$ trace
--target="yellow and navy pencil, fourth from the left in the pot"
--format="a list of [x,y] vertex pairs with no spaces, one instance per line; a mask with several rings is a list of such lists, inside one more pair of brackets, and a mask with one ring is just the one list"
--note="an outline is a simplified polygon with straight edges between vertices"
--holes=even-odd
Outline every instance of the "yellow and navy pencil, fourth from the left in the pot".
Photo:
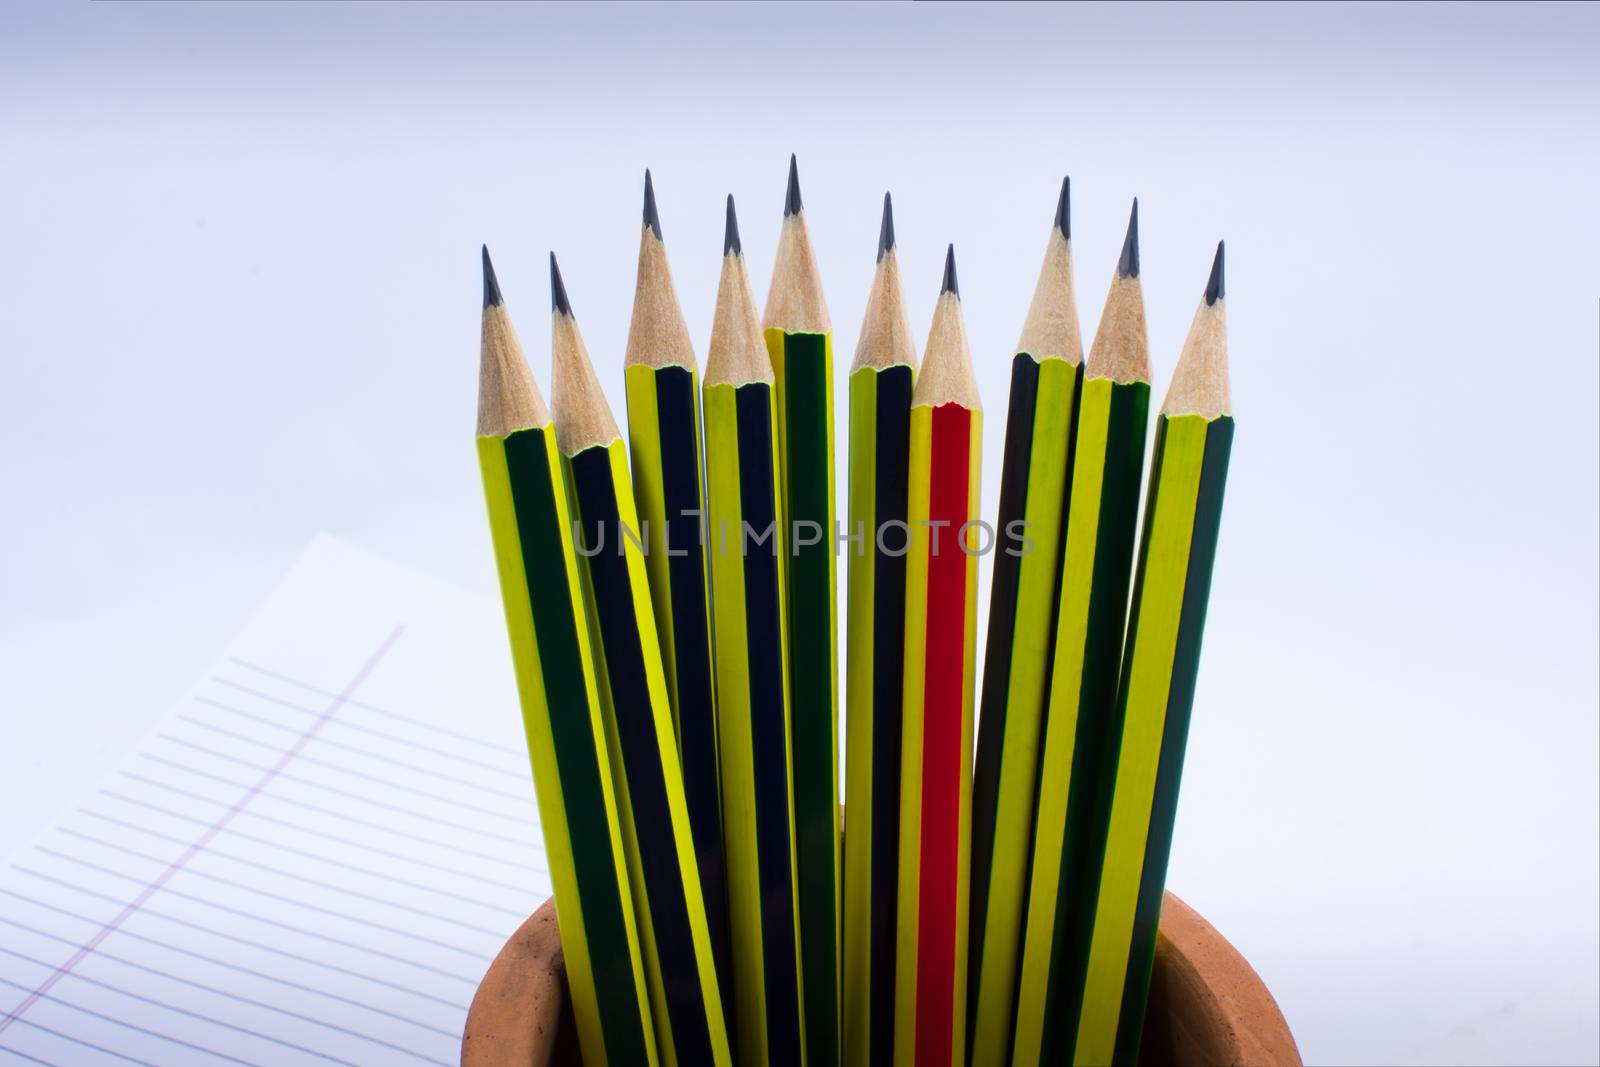
[[717,741],[741,1064],[805,1062],[773,365],[728,197],[706,357]]

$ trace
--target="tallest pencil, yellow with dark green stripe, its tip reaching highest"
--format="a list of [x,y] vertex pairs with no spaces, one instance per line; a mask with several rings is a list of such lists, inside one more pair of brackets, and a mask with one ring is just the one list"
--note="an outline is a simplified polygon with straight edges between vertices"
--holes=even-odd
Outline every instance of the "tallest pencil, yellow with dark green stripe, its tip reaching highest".
[[778,382],[789,544],[789,707],[806,1059],[838,1062],[838,622],[834,555],[834,334],[789,157],[784,224],[762,320]]

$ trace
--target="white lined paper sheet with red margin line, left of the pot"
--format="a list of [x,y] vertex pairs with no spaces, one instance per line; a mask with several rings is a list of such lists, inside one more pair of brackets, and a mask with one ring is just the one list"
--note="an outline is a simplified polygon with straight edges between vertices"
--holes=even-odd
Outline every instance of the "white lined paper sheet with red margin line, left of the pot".
[[499,606],[318,537],[0,870],[0,1064],[454,1064],[549,893]]

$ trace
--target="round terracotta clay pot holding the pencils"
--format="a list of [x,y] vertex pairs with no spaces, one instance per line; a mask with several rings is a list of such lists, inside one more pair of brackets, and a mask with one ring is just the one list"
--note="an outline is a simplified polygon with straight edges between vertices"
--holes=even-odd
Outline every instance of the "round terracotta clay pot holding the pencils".
[[[555,902],[490,965],[467,1013],[461,1067],[578,1064]],[[1299,1049],[1261,977],[1187,904],[1166,894],[1139,1062],[1150,1067],[1299,1067]]]

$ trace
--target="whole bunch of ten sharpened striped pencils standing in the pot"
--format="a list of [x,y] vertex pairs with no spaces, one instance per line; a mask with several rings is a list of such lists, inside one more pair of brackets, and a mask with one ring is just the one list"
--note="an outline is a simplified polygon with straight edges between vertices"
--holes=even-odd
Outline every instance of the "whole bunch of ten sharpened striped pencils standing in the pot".
[[1138,1061],[1234,434],[1222,269],[1139,533],[1139,205],[1085,360],[1062,181],[990,528],[955,250],[918,370],[885,194],[838,536],[794,157],[763,318],[728,197],[704,381],[645,173],[627,450],[555,258],[546,408],[483,251],[478,456],[586,1062]]

